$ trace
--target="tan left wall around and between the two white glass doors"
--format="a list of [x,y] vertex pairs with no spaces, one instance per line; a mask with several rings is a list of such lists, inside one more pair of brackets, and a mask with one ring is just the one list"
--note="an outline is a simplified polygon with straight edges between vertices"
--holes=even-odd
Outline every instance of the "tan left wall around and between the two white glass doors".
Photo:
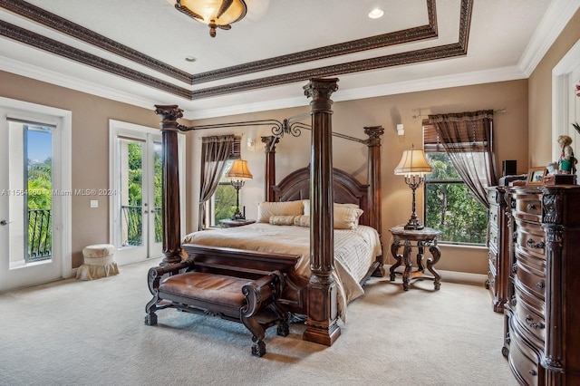
[[[0,85],[5,98],[73,111],[73,191],[109,188],[110,119],[160,127],[153,106],[141,109],[9,72],[0,72]],[[99,200],[99,207],[90,207],[92,199]],[[109,242],[109,198],[73,196],[72,202],[73,267],[77,267],[84,246]]]

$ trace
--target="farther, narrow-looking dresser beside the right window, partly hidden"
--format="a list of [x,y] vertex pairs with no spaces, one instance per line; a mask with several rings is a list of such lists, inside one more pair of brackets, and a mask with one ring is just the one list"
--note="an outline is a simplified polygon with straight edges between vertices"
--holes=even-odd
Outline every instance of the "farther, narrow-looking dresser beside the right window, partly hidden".
[[491,306],[496,313],[504,312],[507,303],[509,280],[509,229],[506,187],[489,187],[488,190],[488,280],[486,288],[491,294]]

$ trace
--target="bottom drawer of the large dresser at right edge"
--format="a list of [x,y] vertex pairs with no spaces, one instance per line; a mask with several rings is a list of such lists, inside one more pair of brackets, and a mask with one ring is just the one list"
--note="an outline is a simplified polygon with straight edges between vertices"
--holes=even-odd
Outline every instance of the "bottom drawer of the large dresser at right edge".
[[539,356],[519,335],[513,324],[513,317],[509,318],[509,367],[520,383],[538,385],[541,370]]

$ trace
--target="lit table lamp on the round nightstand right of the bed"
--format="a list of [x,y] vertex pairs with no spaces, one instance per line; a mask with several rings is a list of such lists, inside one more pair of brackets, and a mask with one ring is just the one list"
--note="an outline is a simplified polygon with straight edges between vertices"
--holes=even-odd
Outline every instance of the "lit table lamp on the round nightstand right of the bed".
[[430,173],[432,170],[433,168],[431,168],[429,162],[425,159],[423,150],[415,149],[414,146],[411,146],[411,150],[402,152],[401,162],[395,168],[395,174],[404,175],[405,183],[413,191],[411,218],[409,218],[409,221],[404,226],[405,229],[422,229],[424,227],[419,217],[417,217],[417,213],[415,213],[415,190],[419,188],[420,183],[425,179],[425,174]]

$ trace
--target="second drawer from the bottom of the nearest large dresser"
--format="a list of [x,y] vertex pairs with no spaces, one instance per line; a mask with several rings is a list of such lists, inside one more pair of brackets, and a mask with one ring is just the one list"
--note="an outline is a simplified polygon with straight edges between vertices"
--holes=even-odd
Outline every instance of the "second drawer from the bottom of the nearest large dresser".
[[517,302],[516,306],[512,307],[515,310],[512,318],[517,318],[526,339],[530,342],[536,342],[539,350],[546,338],[546,321],[543,316],[546,305],[533,295],[527,294],[517,281],[514,285],[514,291]]

